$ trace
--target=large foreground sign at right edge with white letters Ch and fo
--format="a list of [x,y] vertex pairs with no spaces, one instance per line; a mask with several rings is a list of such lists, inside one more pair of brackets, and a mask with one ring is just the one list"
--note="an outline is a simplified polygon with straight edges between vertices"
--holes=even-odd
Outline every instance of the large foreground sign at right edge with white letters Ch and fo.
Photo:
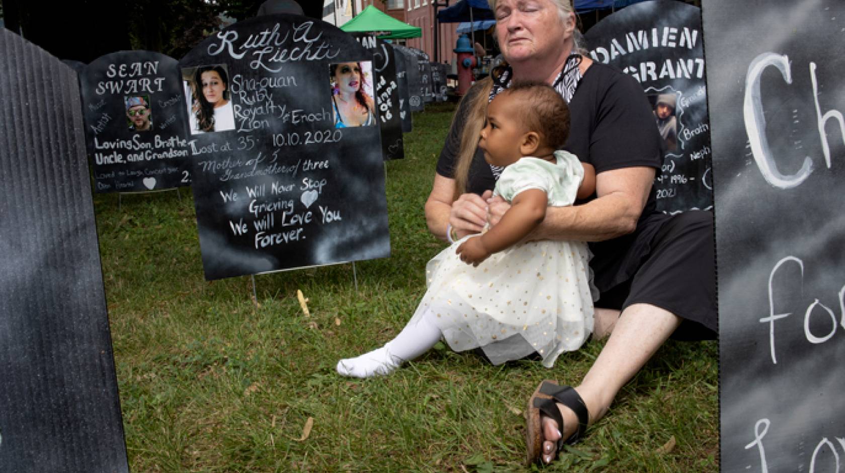
[[845,3],[705,0],[722,471],[845,460]]

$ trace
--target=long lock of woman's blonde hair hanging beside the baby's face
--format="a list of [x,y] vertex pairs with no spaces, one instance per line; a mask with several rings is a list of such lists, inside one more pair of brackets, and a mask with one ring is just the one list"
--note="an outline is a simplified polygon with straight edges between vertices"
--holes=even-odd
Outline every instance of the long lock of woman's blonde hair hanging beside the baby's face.
[[[487,120],[487,103],[490,97],[490,90],[493,90],[493,79],[486,77],[477,81],[473,88],[472,95],[464,95],[462,101],[467,101],[466,113],[455,113],[452,117],[452,126],[455,122],[463,119],[464,128],[461,132],[461,148],[458,152],[458,159],[455,161],[455,200],[466,193],[466,182],[469,180],[472,158],[475,156],[478,147],[478,139],[481,137],[481,130]],[[460,117],[459,117],[460,116]]]

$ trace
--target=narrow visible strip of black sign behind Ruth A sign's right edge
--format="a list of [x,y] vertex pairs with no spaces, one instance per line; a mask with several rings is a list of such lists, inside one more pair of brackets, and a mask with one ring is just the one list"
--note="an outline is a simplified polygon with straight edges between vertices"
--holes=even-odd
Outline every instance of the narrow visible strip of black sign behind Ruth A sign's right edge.
[[374,35],[354,35],[362,46],[373,52],[373,82],[381,128],[381,150],[384,160],[405,157],[402,141],[402,119],[399,111],[399,83],[393,48]]

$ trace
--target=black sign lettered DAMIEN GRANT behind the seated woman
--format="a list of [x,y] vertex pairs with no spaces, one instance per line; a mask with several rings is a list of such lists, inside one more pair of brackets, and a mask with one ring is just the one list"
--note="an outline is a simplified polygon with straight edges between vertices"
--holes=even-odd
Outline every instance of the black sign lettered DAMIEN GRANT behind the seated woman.
[[657,209],[712,209],[701,10],[675,0],[623,8],[586,32],[590,57],[640,81],[651,101],[665,154]]

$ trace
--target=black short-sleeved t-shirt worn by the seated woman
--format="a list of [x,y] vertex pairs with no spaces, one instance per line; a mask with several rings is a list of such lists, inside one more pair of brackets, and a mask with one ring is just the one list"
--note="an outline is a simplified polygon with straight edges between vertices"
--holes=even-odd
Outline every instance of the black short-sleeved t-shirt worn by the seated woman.
[[[479,93],[475,85],[467,98]],[[454,177],[454,163],[461,144],[461,129],[466,119],[466,103],[456,111],[457,117],[450,129],[437,163],[437,173]],[[647,166],[657,170],[662,165],[660,133],[655,126],[651,105],[639,83],[617,68],[602,63],[592,63],[575,90],[570,101],[570,139],[565,150],[590,163],[596,172],[624,167]],[[495,187],[490,166],[484,161],[481,150],[476,150],[466,185],[467,192],[483,193]],[[595,198],[593,195],[588,200]],[[625,236],[604,242],[591,242],[594,254],[591,267],[596,274],[596,285],[606,291],[627,280],[641,263],[648,251],[648,242],[659,228],[652,222],[662,220],[656,214],[654,188],[643,209],[637,230]]]

